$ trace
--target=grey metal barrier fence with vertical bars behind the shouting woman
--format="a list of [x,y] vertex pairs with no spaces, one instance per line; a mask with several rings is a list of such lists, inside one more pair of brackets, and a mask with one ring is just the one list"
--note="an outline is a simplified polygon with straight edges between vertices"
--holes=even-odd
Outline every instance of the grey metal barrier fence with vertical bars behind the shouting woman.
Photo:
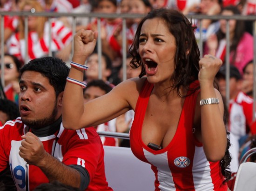
[[[72,33],[74,35],[75,33],[75,26],[76,26],[76,18],[77,17],[85,17],[85,18],[96,18],[97,19],[97,30],[98,33],[101,33],[101,18],[121,18],[122,19],[122,28],[126,28],[126,19],[133,19],[133,18],[142,18],[144,15],[142,14],[106,14],[106,13],[43,13],[43,12],[35,12],[35,13],[30,13],[30,12],[0,12],[0,39],[1,39],[1,50],[3,50],[4,47],[4,15],[10,15],[10,16],[24,16],[24,22],[25,22],[25,42],[27,44],[27,36],[28,36],[28,29],[27,29],[27,23],[28,23],[28,16],[45,16],[48,18],[49,22],[51,22],[52,18],[55,17],[61,17],[61,16],[65,16],[65,17],[72,17]],[[199,31],[200,31],[200,39],[198,42],[198,46],[199,46],[199,50],[202,53],[202,25],[201,25],[201,20],[202,19],[210,19],[210,20],[220,20],[220,19],[225,19],[227,20],[227,24],[226,24],[226,41],[227,41],[227,45],[226,45],[226,66],[227,66],[227,70],[226,70],[226,103],[229,103],[229,54],[230,54],[230,50],[229,50],[229,45],[230,45],[230,41],[229,41],[229,20],[250,20],[253,21],[253,38],[254,38],[254,58],[253,58],[253,76],[254,76],[254,86],[253,86],[253,98],[254,98],[254,106],[253,106],[253,113],[255,113],[256,111],[256,15],[232,15],[232,16],[223,16],[223,15],[214,15],[214,16],[208,16],[208,15],[202,15],[202,14],[195,14],[195,15],[187,15],[187,18],[190,19],[196,19],[199,20],[200,26],[199,26]],[[51,33],[51,27],[49,27],[49,33]],[[126,31],[122,30],[122,39],[126,39]],[[98,36],[97,39],[98,42],[98,46],[97,46],[97,51],[98,51],[98,60],[101,60],[101,56],[102,56],[102,52],[101,52],[101,37],[100,35]],[[49,40],[49,45],[51,45],[51,40]],[[50,47],[49,47],[50,48]],[[72,53],[73,54],[74,51],[74,44],[72,43]],[[25,54],[27,55],[27,47],[25,50]],[[49,56],[52,56],[52,52],[49,51]],[[201,54],[202,55],[202,54]],[[1,58],[4,57],[4,52],[1,51]],[[123,80],[127,79],[127,75],[126,75],[126,60],[127,57],[127,52],[126,52],[126,40],[122,40],[122,66],[123,66]],[[27,56],[25,58],[25,63],[27,63]],[[3,63],[3,59],[1,60],[1,76],[4,75],[4,63]],[[101,79],[102,77],[102,73],[101,73],[101,64],[99,64],[99,79]],[[4,79],[1,78],[2,84],[4,84]],[[253,115],[253,119],[255,119],[255,115]]]

